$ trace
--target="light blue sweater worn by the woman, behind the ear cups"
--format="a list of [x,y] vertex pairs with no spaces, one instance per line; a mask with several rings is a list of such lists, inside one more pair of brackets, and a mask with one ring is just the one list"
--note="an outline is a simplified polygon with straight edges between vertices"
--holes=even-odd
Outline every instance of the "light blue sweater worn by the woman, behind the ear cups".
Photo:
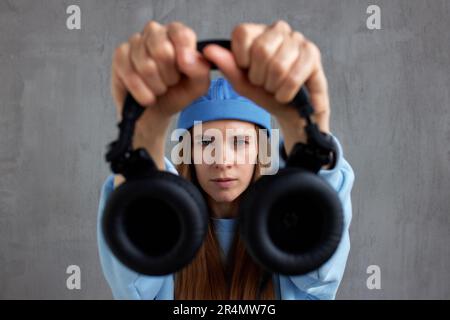
[[[334,168],[321,170],[322,176],[338,192],[344,209],[344,234],[334,255],[319,269],[306,275],[285,276],[273,274],[276,299],[334,299],[344,274],[350,251],[349,226],[352,218],[350,192],[355,175],[352,167],[344,159],[342,146],[333,136],[338,150]],[[280,160],[281,161],[281,160]],[[165,158],[166,170],[177,174],[173,164]],[[284,166],[279,163],[280,168]],[[109,175],[103,183],[97,215],[97,242],[100,262],[106,281],[115,299],[174,299],[174,274],[165,276],[147,276],[138,274],[124,266],[106,245],[100,219],[109,195],[114,190],[114,175]],[[219,244],[225,255],[228,254],[236,219],[210,218],[216,226]]]

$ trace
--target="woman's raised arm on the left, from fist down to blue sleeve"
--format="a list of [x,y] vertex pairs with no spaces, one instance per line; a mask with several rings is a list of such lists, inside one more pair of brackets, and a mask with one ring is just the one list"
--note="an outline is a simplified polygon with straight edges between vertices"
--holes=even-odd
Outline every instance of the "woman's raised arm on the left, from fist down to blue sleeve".
[[[123,103],[130,93],[145,108],[136,122],[133,148],[145,148],[160,170],[172,171],[164,158],[172,117],[208,90],[209,71],[209,63],[197,52],[195,33],[179,22],[165,26],[150,21],[114,53],[111,89],[117,120],[121,121]],[[111,192],[123,182],[121,175],[108,176],[98,206],[97,241],[105,278],[116,299],[171,299],[172,275],[138,274],[124,266],[105,242],[101,229],[104,208]]]

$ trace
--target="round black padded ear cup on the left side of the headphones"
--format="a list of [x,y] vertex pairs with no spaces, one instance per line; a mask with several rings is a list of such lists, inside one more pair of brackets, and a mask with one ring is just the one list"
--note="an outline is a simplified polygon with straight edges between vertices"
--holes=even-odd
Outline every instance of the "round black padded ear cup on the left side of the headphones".
[[146,275],[171,274],[189,264],[207,227],[200,191],[180,176],[157,170],[115,189],[102,219],[111,251]]

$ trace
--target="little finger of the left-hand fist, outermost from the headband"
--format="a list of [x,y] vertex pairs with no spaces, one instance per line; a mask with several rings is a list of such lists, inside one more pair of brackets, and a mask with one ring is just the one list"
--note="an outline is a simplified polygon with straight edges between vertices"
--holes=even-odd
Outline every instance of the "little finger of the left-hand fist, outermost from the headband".
[[130,45],[125,43],[119,46],[114,54],[114,59],[115,65],[120,66],[116,69],[118,79],[126,87],[127,91],[140,105],[144,107],[152,105],[155,102],[155,96],[132,66]]

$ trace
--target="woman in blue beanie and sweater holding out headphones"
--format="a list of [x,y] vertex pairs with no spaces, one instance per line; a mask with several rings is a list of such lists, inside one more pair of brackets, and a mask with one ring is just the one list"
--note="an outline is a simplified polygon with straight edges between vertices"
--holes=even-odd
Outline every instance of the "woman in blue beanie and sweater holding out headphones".
[[[306,138],[303,120],[286,103],[305,84],[314,105],[313,119],[322,132],[331,134],[327,83],[315,45],[284,21],[270,26],[239,25],[231,40],[231,52],[210,45],[202,55],[195,50],[196,37],[191,29],[178,22],[162,26],[151,21],[116,51],[112,91],[119,120],[127,92],[146,107],[137,122],[133,146],[146,148],[160,170],[180,174],[196,184],[208,204],[211,222],[194,260],[167,276],[145,276],[129,270],[111,253],[98,227],[101,264],[116,299],[255,299],[261,270],[235,231],[240,195],[261,174],[259,136],[227,136],[227,129],[252,133],[262,128],[270,135],[272,115],[280,124],[282,147],[289,154],[295,143]],[[215,63],[227,80],[210,81],[208,61]],[[215,143],[206,134],[209,129],[225,136],[215,149],[220,153],[215,162],[184,163],[175,168],[164,156],[169,124],[179,111],[178,128],[191,133],[191,151]],[[195,121],[202,121],[201,128]],[[341,243],[318,270],[303,276],[274,274],[262,299],[334,299],[336,295],[350,249],[354,173],[343,158],[339,141],[333,139],[338,146],[334,165],[322,168],[319,174],[338,192],[343,204]],[[244,155],[245,161],[229,161],[227,154]],[[109,194],[122,182],[123,177],[110,175],[103,184],[98,226]]]

